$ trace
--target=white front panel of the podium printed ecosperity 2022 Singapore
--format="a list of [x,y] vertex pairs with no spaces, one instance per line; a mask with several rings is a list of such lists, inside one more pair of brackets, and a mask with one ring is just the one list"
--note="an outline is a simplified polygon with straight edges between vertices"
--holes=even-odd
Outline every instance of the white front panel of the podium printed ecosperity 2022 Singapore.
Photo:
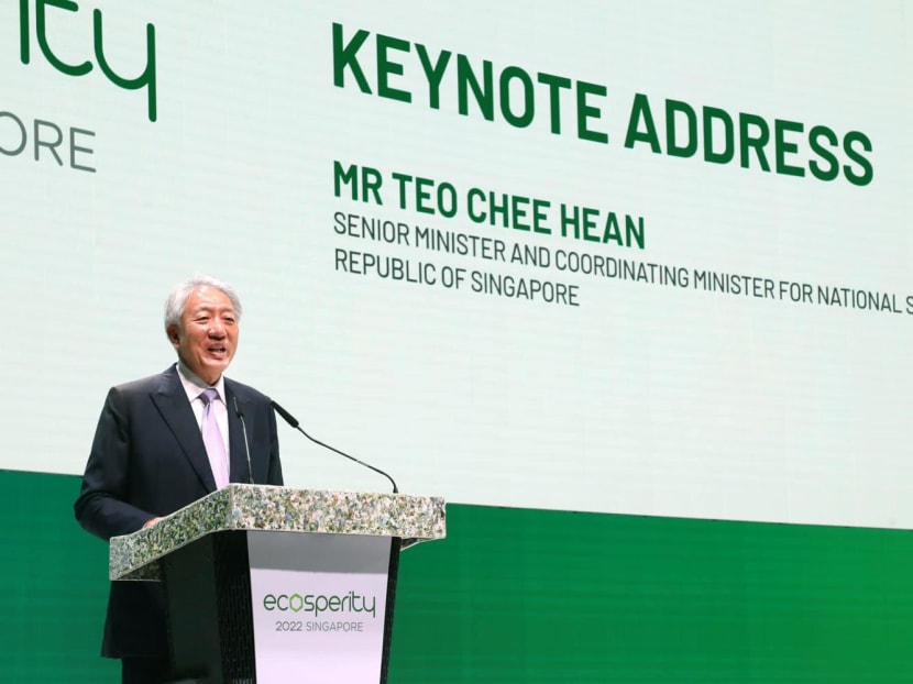
[[257,684],[382,681],[392,544],[248,532]]

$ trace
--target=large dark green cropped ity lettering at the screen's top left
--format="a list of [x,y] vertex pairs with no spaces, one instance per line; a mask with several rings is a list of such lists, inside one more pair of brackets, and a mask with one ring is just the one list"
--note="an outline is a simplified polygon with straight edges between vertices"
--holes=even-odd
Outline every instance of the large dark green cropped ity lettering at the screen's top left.
[[[47,63],[61,74],[67,76],[85,76],[89,74],[95,65],[91,59],[85,59],[78,64],[64,62],[53,49],[47,30],[47,8],[57,8],[67,12],[77,13],[79,5],[74,0],[19,0],[19,35],[20,35],[20,58],[22,64],[32,62],[32,29],[31,10],[34,8],[35,38],[41,54]],[[55,25],[59,25],[55,19]],[[146,24],[146,65],[143,73],[135,78],[128,78],[118,74],[105,55],[105,21],[101,10],[92,10],[92,48],[98,68],[114,86],[125,90],[146,89],[147,115],[150,121],[155,121],[158,115],[158,102],[155,87],[155,26]],[[57,29],[63,32],[64,29]]]

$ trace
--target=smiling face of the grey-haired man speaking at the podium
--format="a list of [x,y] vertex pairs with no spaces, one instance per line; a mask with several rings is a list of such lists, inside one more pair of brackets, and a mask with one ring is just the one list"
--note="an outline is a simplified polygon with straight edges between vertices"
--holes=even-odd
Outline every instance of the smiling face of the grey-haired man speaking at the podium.
[[168,326],[167,333],[187,367],[212,385],[234,357],[238,316],[223,291],[204,286],[187,298],[180,326]]

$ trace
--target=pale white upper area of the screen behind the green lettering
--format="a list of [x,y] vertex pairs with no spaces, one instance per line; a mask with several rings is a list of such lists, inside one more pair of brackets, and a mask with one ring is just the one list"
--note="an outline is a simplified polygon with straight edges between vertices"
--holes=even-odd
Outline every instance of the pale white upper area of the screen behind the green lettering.
[[[0,371],[6,468],[78,473],[106,389],[173,361],[169,287],[232,282],[245,306],[229,375],[273,396],[316,437],[391,471],[400,489],[470,504],[850,526],[913,526],[909,464],[913,295],[911,7],[903,2],[507,3],[89,2],[0,5]],[[150,88],[121,76],[155,60]],[[147,49],[145,26],[155,27]],[[333,23],[358,52],[333,84]],[[30,55],[23,63],[22,27]],[[377,35],[389,85],[378,97]],[[452,51],[439,109],[417,44]],[[536,87],[529,128],[457,107],[455,62],[516,66],[605,87],[580,140],[574,98],[549,131]],[[513,88],[518,88],[514,82]],[[512,90],[510,102],[519,111]],[[804,177],[625,147],[636,93],[800,122]],[[496,108],[497,111],[497,108]],[[35,120],[66,143],[35,159]],[[22,126],[20,128],[20,123]],[[872,180],[814,178],[809,132],[864,133]],[[38,123],[48,140],[53,128]],[[24,131],[24,135],[23,135]],[[737,133],[738,135],[738,129]],[[21,152],[15,153],[24,142]],[[738,137],[736,137],[738,144]],[[768,158],[774,164],[772,144]],[[15,154],[14,154],[15,153]],[[836,147],[840,165],[853,159]],[[375,168],[383,205],[334,196],[334,162]],[[858,173],[859,166],[855,165]],[[550,202],[551,235],[398,206],[393,173]],[[558,233],[562,205],[644,220],[646,245]],[[334,232],[333,214],[404,222],[410,243]],[[416,247],[415,227],[686,269],[688,287],[501,263]],[[600,229],[600,234],[602,229]],[[353,275],[337,250],[575,286],[579,306]],[[694,269],[776,284],[774,297],[704,291]],[[469,277],[469,275],[468,275]],[[900,312],[793,302],[780,280],[872,290]],[[789,290],[787,290],[789,291]],[[913,301],[913,300],[911,300]],[[370,472],[280,426],[287,483],[384,489]]]

